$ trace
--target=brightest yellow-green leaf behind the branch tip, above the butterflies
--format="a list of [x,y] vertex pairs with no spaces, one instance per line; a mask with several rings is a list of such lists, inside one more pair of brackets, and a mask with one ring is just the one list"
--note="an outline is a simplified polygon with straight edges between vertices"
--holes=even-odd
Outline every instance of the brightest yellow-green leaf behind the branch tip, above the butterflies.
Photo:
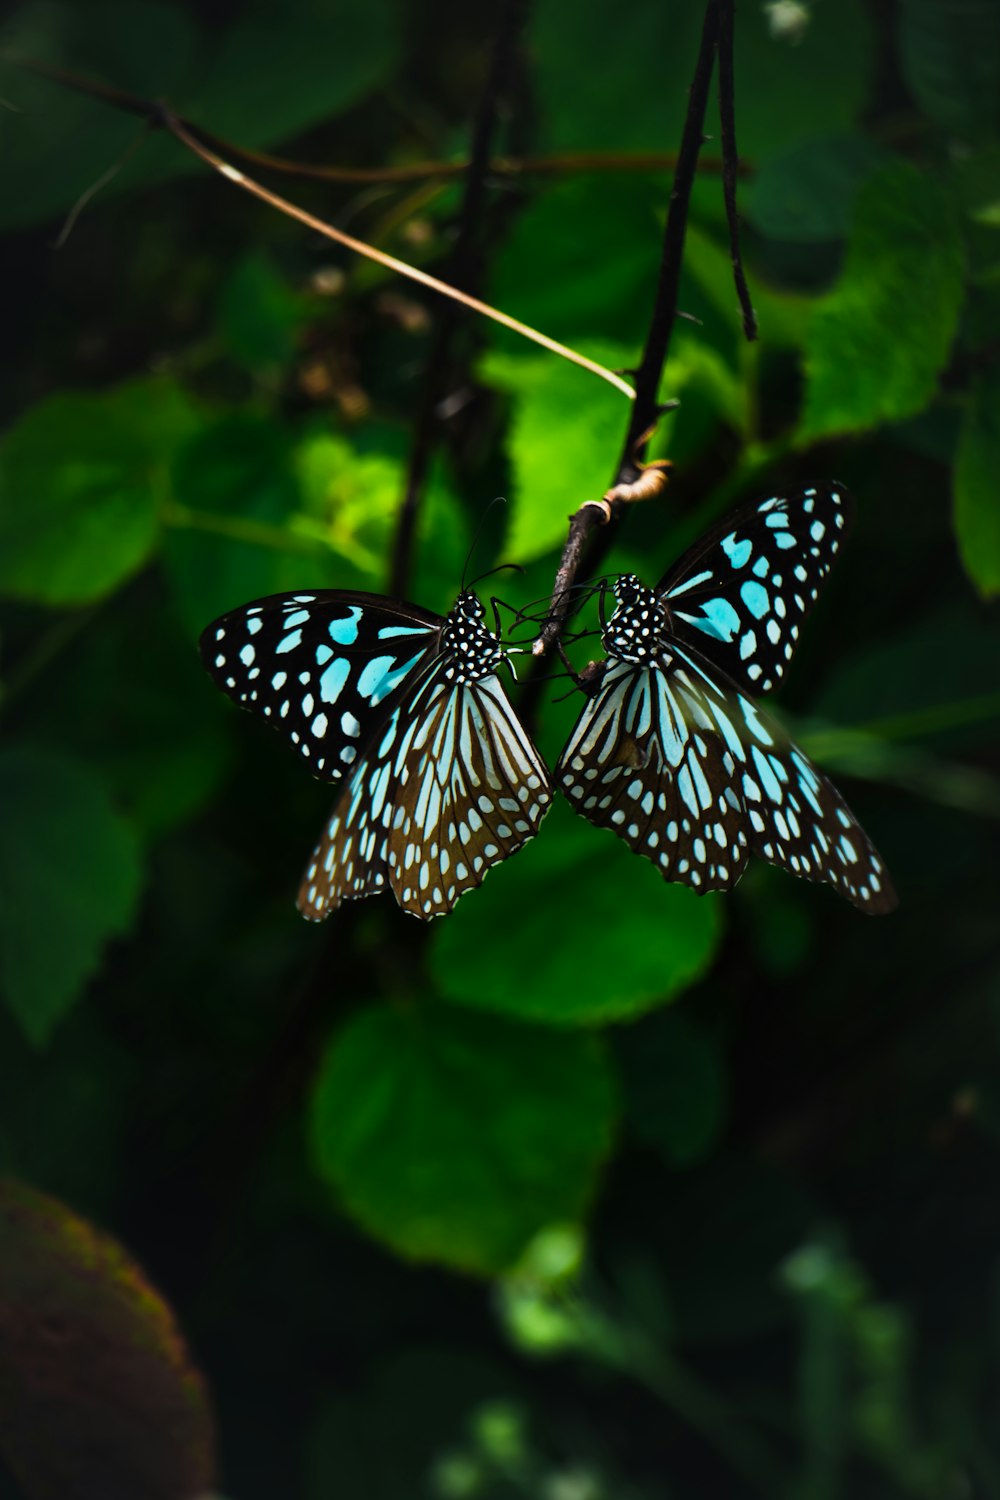
[[[624,368],[621,345],[574,345],[609,369]],[[507,546],[528,562],[565,536],[567,518],[612,483],[628,405],[619,392],[565,360],[487,354],[483,378],[513,398],[510,464],[516,504]]]

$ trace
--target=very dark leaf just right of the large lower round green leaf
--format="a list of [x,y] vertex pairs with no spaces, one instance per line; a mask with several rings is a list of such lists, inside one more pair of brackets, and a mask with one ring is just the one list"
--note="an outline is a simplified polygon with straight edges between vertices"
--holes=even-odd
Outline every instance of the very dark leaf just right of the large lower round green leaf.
[[679,1011],[651,1016],[616,1035],[630,1132],[687,1167],[715,1144],[727,1110],[718,1046]]

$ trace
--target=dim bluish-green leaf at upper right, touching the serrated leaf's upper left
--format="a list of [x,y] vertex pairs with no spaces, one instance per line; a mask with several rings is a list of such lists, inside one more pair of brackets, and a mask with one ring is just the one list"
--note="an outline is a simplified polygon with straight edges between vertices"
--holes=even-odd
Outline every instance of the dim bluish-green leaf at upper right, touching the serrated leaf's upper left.
[[840,240],[862,183],[891,160],[865,135],[831,135],[765,158],[742,194],[742,208],[775,240]]

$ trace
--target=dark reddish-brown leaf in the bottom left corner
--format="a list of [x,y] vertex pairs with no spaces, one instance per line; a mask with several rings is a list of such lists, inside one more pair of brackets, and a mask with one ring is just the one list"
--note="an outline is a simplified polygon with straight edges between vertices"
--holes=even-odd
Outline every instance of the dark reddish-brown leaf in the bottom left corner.
[[135,1262],[0,1182],[0,1452],[27,1500],[193,1500],[213,1449],[204,1382]]

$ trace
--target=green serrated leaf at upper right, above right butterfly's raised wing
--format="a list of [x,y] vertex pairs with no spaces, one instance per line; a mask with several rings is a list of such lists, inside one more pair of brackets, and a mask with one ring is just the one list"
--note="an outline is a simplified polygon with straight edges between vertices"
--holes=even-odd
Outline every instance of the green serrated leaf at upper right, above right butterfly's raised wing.
[[805,345],[799,441],[912,417],[931,400],[963,302],[963,248],[949,200],[910,165],[858,196],[838,285]]

